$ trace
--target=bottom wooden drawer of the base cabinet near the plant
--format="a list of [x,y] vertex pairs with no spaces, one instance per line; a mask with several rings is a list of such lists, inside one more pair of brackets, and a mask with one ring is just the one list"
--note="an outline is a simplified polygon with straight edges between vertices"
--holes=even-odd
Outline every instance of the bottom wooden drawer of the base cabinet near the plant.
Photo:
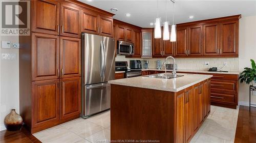
[[223,94],[223,93],[217,93],[217,92],[211,92],[210,93],[210,100],[211,101],[218,101],[218,102],[229,102],[229,103],[235,103],[236,101],[236,94]]

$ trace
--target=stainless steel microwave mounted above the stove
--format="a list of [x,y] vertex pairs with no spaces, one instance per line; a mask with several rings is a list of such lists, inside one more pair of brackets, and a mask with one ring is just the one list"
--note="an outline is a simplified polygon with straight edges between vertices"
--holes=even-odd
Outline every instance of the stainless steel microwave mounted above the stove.
[[119,55],[134,55],[133,43],[118,41],[117,54],[119,54]]

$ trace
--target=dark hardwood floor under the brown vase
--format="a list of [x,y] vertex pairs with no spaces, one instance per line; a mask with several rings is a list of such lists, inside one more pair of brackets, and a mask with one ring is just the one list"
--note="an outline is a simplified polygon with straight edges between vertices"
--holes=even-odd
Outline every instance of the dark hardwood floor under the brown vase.
[[0,142],[39,143],[41,141],[35,138],[27,129],[23,127],[20,131],[0,131]]

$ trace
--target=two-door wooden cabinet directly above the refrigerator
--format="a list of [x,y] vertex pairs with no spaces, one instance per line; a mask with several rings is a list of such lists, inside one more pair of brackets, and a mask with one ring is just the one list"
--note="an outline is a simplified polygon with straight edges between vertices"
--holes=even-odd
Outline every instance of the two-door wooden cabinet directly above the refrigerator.
[[113,18],[94,11],[82,10],[82,32],[113,37]]

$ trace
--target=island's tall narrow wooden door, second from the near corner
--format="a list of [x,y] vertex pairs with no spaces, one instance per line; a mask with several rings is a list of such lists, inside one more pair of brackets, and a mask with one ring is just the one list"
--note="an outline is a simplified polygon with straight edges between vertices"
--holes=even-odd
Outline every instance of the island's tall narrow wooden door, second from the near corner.
[[189,142],[193,137],[193,87],[186,89],[185,103],[185,141]]

